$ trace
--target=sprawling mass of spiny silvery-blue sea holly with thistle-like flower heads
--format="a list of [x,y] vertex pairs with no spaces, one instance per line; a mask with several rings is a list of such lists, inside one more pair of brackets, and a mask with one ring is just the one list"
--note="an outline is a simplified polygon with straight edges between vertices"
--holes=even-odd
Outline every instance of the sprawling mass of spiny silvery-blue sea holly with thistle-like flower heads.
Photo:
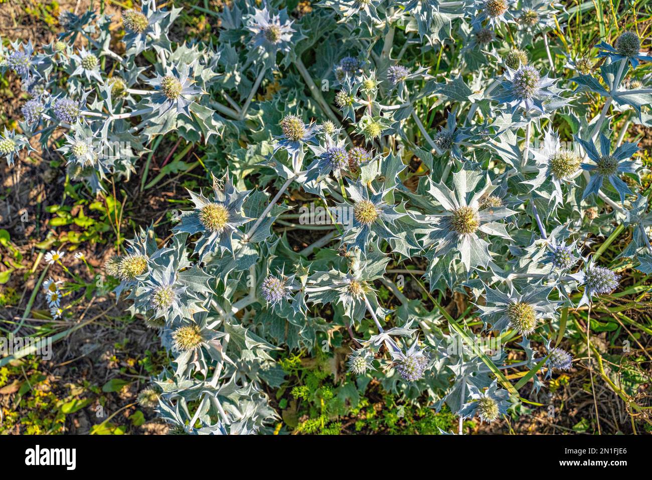
[[40,143],[89,197],[187,187],[171,225],[122,243],[119,224],[104,265],[170,352],[143,402],[173,432],[273,433],[301,352],[356,395],[374,380],[448,406],[459,434],[544,405],[575,368],[565,342],[600,354],[584,314],[639,308],[642,282],[612,293],[628,265],[652,271],[649,161],[625,141],[649,125],[641,38],[565,59],[550,42],[571,14],[535,0],[295,7],[224,3],[210,41],[179,38],[181,9],[155,0],[64,12],[52,44],[0,52],[25,98],[8,164]]

